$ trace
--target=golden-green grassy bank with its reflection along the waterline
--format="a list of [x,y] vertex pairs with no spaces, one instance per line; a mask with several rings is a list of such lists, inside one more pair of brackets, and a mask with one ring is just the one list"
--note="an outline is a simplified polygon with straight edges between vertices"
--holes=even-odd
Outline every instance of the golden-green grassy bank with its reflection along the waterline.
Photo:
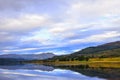
[[71,65],[89,65],[90,67],[111,67],[120,68],[120,57],[115,58],[90,58],[88,61],[31,61],[34,64],[71,66]]

